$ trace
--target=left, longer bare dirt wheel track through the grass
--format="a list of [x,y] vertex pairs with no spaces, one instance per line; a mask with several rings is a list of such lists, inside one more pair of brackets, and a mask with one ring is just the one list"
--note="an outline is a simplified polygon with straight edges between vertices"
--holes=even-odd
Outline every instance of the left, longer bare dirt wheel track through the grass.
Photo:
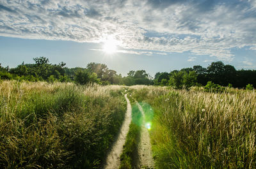
[[127,98],[127,94],[125,94],[125,99],[127,101],[127,112],[125,114],[124,123],[122,124],[120,133],[115,144],[113,145],[112,150],[108,154],[106,165],[104,166],[105,169],[115,169],[118,168],[120,165],[120,155],[123,151],[125,138],[129,131],[129,125],[132,119],[132,107],[129,99]]

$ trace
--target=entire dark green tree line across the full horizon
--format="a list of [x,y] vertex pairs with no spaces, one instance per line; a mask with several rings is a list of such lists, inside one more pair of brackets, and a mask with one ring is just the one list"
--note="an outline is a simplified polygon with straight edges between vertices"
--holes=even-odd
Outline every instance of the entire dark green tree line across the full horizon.
[[15,79],[47,82],[76,82],[77,84],[97,83],[102,85],[161,85],[177,89],[193,85],[219,84],[221,86],[243,88],[250,84],[256,86],[256,70],[236,70],[223,62],[212,62],[207,68],[200,65],[168,72],[158,72],[152,78],[145,70],[131,70],[122,77],[106,64],[90,62],[85,68],[67,68],[65,62],[51,64],[46,57],[33,58],[33,64],[19,64],[16,68],[4,68],[0,64],[1,79]]

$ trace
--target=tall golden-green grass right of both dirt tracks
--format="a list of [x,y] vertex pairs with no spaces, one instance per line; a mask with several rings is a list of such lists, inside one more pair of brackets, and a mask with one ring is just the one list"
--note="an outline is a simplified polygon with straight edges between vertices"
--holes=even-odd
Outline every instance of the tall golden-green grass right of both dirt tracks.
[[154,110],[157,168],[256,168],[256,93],[134,86]]

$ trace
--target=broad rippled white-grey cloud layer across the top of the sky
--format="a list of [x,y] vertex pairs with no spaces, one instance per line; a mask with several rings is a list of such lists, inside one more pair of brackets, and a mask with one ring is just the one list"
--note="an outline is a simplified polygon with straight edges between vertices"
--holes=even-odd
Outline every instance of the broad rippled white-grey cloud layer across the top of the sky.
[[1,36],[99,43],[111,35],[123,52],[191,52],[223,61],[234,59],[232,48],[256,48],[255,0],[6,0],[0,11]]

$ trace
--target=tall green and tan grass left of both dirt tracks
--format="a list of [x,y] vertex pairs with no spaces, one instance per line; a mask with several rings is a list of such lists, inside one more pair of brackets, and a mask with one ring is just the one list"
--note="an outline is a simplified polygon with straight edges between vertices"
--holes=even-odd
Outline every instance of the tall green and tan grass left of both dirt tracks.
[[99,168],[124,120],[122,91],[0,82],[0,168]]

